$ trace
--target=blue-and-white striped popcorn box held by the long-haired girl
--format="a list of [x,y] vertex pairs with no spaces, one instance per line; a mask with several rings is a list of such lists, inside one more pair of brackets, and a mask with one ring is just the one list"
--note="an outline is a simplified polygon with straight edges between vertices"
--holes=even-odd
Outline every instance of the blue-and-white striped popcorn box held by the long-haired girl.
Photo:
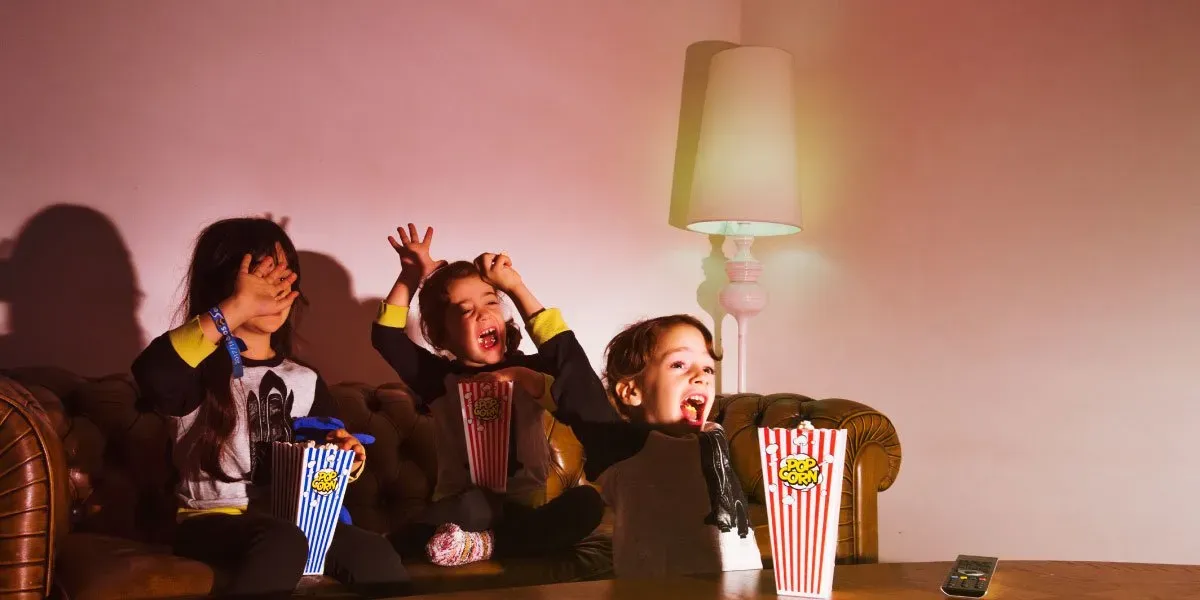
[[308,538],[305,575],[325,572],[325,553],[334,542],[353,466],[354,452],[332,445],[271,445],[271,511]]

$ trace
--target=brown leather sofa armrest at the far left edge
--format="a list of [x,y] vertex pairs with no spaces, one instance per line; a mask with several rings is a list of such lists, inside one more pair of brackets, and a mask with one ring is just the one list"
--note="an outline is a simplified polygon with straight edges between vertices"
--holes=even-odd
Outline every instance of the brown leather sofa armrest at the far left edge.
[[54,556],[70,528],[62,442],[46,410],[0,376],[0,589],[13,598],[50,593]]

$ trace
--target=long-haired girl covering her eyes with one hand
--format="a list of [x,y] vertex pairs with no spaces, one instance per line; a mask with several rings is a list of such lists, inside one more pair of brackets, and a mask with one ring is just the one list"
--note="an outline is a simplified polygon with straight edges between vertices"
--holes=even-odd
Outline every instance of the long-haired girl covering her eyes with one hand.
[[[334,413],[320,376],[293,356],[299,296],[296,251],[278,224],[218,221],[196,242],[187,323],[155,338],[132,367],[172,433],[174,551],[228,570],[232,595],[289,596],[308,553],[300,528],[265,511],[271,443],[294,439],[294,418]],[[362,445],[344,430],[329,440],[355,451],[356,479]],[[408,580],[386,539],[347,524],[337,526],[325,571],[371,594],[398,593]]]

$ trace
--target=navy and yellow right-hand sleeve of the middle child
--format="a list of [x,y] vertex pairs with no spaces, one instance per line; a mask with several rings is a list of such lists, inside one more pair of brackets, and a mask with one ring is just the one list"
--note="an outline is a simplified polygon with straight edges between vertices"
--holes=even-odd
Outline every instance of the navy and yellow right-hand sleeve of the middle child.
[[572,428],[581,422],[620,420],[587,353],[558,308],[540,311],[529,319],[527,329],[538,347],[534,368],[553,378],[550,383],[552,402],[547,409],[556,419]]

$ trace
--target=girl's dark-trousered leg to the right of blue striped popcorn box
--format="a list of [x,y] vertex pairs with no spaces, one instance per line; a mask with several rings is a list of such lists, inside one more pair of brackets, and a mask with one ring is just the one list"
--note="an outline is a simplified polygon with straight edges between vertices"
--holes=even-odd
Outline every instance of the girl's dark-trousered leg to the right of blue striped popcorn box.
[[334,532],[325,554],[325,575],[370,596],[400,595],[408,583],[400,554],[383,535],[346,523],[338,523]]

